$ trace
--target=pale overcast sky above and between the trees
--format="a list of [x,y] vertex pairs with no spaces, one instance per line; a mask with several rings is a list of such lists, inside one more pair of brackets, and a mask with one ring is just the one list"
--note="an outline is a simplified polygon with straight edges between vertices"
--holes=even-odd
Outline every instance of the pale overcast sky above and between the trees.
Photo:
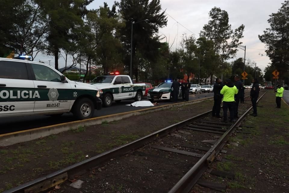
[[[94,0],[87,8],[97,9],[103,5],[103,2],[107,2],[111,7],[114,0]],[[203,26],[209,21],[209,11],[216,6],[228,12],[229,24],[232,25],[232,29],[244,24],[244,38],[241,39],[241,42],[246,46],[246,61],[249,59],[251,62],[256,62],[263,71],[270,60],[266,55],[260,55],[265,52],[265,44],[260,42],[258,34],[263,34],[263,30],[269,27],[267,22],[269,15],[276,13],[283,2],[280,0],[160,0],[162,9],[166,10],[171,17],[167,16],[167,26],[159,29],[159,32],[170,37],[170,44],[176,36],[178,41],[175,41],[173,49],[179,48],[179,41],[183,33],[188,36],[195,34],[195,37],[198,38]],[[241,49],[236,58],[239,57],[244,58],[244,51]],[[49,63],[47,57],[39,56],[35,61],[39,59]],[[51,60],[51,66],[54,66],[54,61]],[[59,65],[60,67],[64,66],[62,58],[59,59]]]

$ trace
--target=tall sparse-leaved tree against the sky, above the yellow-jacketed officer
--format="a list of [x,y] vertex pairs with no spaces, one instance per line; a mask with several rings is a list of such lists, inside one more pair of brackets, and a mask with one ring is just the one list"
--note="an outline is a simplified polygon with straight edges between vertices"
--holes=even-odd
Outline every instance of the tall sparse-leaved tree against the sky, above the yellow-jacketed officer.
[[203,30],[200,32],[200,37],[213,41],[214,52],[220,55],[220,60],[213,62],[213,66],[220,68],[226,60],[235,57],[236,47],[242,43],[240,39],[243,38],[244,25],[242,24],[232,30],[231,24],[228,24],[229,16],[227,11],[217,7],[212,8],[209,16],[211,20],[204,25]]

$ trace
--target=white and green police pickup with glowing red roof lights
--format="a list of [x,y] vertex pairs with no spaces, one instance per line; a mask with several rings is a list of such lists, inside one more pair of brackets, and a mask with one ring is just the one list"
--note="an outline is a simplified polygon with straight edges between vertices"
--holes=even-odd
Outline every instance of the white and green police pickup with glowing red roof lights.
[[145,84],[133,84],[127,75],[112,73],[98,76],[90,84],[99,89],[102,105],[105,107],[111,106],[112,101],[120,102],[123,99],[140,101],[145,94]]

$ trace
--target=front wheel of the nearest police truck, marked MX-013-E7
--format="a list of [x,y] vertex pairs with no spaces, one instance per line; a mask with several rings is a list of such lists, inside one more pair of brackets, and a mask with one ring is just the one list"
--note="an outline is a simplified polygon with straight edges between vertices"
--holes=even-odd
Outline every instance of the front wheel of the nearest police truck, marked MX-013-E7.
[[76,100],[72,113],[79,120],[92,118],[94,114],[94,104],[89,98]]

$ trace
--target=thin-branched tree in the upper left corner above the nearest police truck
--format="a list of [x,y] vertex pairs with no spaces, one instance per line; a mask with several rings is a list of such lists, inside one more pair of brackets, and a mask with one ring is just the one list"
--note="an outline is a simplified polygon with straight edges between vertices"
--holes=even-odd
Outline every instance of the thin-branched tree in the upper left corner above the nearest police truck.
[[13,49],[18,55],[31,55],[33,60],[45,47],[49,27],[45,11],[34,0],[5,0],[0,9],[5,16],[0,25],[5,28],[0,30],[4,46]]

